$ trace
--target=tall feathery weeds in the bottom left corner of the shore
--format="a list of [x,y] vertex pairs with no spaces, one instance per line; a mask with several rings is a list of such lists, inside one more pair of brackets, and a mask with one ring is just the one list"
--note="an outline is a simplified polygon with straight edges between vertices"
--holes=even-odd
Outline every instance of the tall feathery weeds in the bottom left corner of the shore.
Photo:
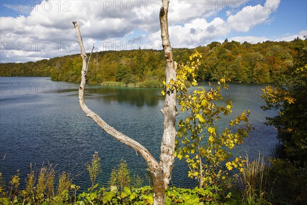
[[57,204],[58,202],[65,201],[65,197],[67,197],[71,187],[70,174],[65,172],[59,173],[58,182],[55,183],[54,168],[52,165],[42,165],[35,173],[30,164],[30,172],[27,175],[24,190],[18,189],[20,184],[19,170],[11,177],[8,190],[6,190],[2,173],[0,172],[0,204],[41,204],[43,202]]

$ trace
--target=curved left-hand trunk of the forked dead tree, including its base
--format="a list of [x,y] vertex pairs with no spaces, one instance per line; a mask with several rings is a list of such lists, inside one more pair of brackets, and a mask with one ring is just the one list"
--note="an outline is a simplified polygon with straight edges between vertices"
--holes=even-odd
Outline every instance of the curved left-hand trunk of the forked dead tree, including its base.
[[[91,109],[89,109],[84,103],[84,89],[86,84],[86,73],[88,62],[86,62],[86,53],[84,49],[84,45],[82,42],[82,37],[80,33],[79,26],[77,22],[73,22],[74,27],[76,29],[77,37],[78,37],[78,44],[81,50],[81,57],[82,57],[82,71],[81,71],[81,83],[79,87],[79,103],[81,109],[84,111],[87,117],[93,119],[106,133],[114,137],[115,139],[121,141],[123,144],[127,145],[128,147],[136,150],[139,152],[143,158],[146,160],[148,164],[149,171],[153,177],[153,192],[154,192],[154,203],[155,205],[163,205],[165,204],[165,189],[164,189],[164,181],[163,181],[163,167],[160,163],[152,157],[152,155],[148,152],[146,148],[144,148],[139,142],[129,138],[128,136],[124,135],[123,133],[114,129],[114,127],[109,126],[103,119],[100,118],[99,115],[94,113]],[[94,49],[94,47],[93,47]],[[92,49],[92,52],[93,52]],[[92,53],[91,53],[92,54]]]

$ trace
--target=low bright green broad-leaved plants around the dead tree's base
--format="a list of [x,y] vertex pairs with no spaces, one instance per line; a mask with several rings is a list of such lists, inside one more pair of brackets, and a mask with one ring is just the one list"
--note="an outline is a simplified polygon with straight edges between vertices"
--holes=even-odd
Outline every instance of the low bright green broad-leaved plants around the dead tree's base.
[[[214,199],[215,195],[210,189],[171,187],[166,190],[165,204],[218,204]],[[153,189],[149,186],[124,187],[121,192],[116,186],[111,186],[110,191],[100,189],[92,193],[83,192],[76,204],[153,204]]]

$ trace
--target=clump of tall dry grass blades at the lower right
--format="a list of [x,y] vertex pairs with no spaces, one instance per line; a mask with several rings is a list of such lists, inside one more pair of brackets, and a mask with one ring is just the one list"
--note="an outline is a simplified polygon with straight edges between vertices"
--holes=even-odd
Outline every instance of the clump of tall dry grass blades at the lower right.
[[258,158],[249,161],[246,156],[244,171],[237,175],[242,188],[242,200],[244,204],[271,204],[272,190],[267,192],[269,166],[260,154]]

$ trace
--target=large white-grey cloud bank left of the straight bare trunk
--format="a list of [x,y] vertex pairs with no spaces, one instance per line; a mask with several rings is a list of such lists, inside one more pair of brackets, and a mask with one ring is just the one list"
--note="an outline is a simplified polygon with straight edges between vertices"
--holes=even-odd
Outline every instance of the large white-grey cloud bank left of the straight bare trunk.
[[105,40],[127,40],[124,37],[135,29],[146,30],[157,9],[158,16],[158,6],[131,1],[42,1],[28,15],[0,17],[1,62],[28,61],[31,56],[34,61],[79,52],[74,20],[81,28],[87,51],[93,43],[99,48]]

